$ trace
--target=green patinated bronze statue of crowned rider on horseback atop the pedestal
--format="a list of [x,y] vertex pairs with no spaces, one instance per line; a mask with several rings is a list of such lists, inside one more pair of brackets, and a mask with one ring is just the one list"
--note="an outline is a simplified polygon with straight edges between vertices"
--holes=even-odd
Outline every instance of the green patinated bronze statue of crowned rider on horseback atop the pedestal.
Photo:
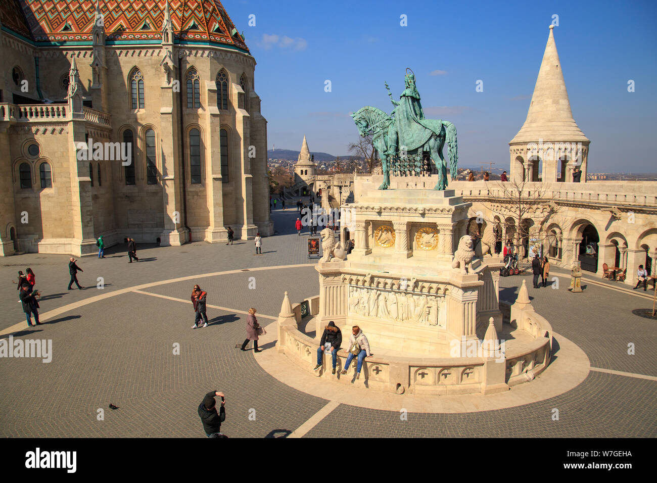
[[376,107],[365,106],[351,114],[351,117],[361,136],[373,135],[374,147],[381,157],[383,168],[383,183],[378,189],[388,189],[390,172],[419,175],[425,152],[430,155],[438,170],[438,183],[434,189],[446,189],[447,162],[443,157],[443,145],[447,141],[450,173],[455,178],[459,162],[456,127],[451,122],[424,118],[415,74],[413,71],[409,73],[409,70],[406,70],[405,89],[399,101],[392,99],[386,83],[390,101],[395,106],[390,116]]

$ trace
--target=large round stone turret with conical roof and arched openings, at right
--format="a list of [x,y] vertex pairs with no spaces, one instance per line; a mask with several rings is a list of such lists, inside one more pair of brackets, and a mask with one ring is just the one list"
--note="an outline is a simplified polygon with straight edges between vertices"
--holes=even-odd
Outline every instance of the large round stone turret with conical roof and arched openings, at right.
[[556,51],[555,26],[545,45],[543,61],[525,123],[510,141],[510,179],[572,181],[579,166],[586,181],[589,139],[575,122]]

